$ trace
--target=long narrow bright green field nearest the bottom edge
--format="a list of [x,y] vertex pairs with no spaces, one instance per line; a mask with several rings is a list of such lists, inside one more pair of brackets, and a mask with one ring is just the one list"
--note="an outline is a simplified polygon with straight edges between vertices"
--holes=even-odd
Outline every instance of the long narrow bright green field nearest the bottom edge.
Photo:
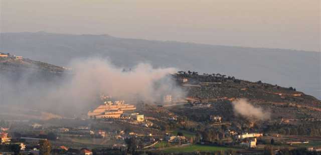
[[167,149],[164,149],[163,151],[170,153],[170,152],[195,152],[195,151],[214,152],[214,151],[220,151],[220,150],[235,150],[235,148],[194,144],[194,145],[189,145],[184,147],[167,148]]

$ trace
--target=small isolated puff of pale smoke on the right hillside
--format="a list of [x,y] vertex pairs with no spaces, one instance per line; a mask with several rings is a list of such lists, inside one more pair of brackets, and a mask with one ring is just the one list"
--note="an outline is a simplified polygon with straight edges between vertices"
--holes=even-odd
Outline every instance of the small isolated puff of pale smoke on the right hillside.
[[267,120],[270,113],[263,111],[261,107],[254,107],[247,99],[240,98],[232,102],[236,115],[246,117],[248,120]]

